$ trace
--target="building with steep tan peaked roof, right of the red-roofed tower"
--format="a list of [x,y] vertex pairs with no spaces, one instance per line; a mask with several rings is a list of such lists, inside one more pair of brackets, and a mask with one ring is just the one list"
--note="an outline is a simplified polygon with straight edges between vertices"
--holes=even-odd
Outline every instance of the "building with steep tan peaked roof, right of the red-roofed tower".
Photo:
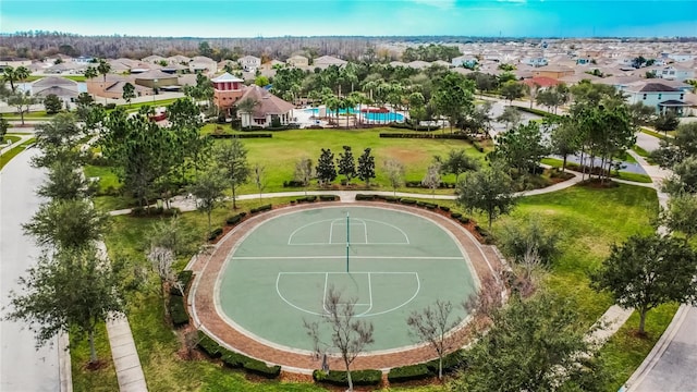
[[293,103],[284,101],[259,86],[252,85],[247,87],[242,98],[240,98],[235,105],[239,106],[240,102],[247,99],[255,101],[256,106],[252,112],[237,111],[237,114],[242,119],[243,127],[268,127],[274,123],[278,123],[279,125],[288,125],[294,121]]

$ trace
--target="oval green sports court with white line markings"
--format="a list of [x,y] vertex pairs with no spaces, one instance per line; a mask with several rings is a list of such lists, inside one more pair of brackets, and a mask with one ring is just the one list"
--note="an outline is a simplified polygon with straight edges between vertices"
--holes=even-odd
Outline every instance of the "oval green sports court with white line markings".
[[[348,272],[346,272],[348,269]],[[217,313],[267,345],[313,350],[304,321],[321,320],[331,287],[372,322],[371,352],[413,346],[406,318],[436,299],[453,316],[477,278],[452,233],[430,219],[380,207],[293,210],[249,230],[232,248],[215,286]],[[329,326],[320,323],[329,342]]]

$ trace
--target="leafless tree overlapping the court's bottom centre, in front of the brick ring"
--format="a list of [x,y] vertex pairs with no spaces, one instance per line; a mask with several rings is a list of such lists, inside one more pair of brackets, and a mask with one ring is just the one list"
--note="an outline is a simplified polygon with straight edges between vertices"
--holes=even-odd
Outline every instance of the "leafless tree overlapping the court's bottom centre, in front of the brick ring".
[[363,353],[365,347],[374,343],[372,323],[365,320],[356,320],[355,305],[357,298],[344,301],[341,292],[333,286],[329,287],[325,298],[323,322],[331,328],[331,344],[321,341],[319,322],[303,320],[307,329],[307,335],[313,339],[315,352],[321,355],[326,352],[322,347],[334,347],[341,354],[341,359],[346,368],[348,391],[353,391],[351,379],[351,364]]

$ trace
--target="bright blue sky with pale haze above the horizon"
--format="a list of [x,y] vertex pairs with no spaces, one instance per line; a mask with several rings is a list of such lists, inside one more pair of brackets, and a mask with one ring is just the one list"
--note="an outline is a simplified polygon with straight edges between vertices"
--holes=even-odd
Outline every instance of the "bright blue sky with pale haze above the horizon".
[[273,37],[697,36],[697,0],[0,0],[0,32]]

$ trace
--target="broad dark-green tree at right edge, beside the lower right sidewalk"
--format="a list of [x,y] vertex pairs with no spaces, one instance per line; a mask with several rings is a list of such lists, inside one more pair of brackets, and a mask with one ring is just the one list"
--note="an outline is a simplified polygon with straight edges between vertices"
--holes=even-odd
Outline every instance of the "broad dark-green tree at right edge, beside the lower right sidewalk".
[[697,256],[684,240],[661,234],[633,235],[613,245],[591,285],[607,291],[615,304],[639,313],[639,333],[646,314],[669,302],[697,304]]

